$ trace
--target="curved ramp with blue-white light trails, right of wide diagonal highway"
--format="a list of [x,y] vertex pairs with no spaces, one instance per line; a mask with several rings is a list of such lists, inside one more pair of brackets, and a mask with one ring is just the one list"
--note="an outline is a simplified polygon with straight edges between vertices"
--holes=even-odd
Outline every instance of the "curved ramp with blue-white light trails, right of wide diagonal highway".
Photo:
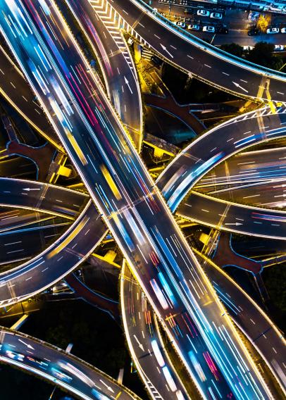
[[158,176],[156,185],[174,212],[211,168],[251,146],[285,137],[285,133],[284,107],[275,114],[265,107],[238,115],[211,128],[187,145]]

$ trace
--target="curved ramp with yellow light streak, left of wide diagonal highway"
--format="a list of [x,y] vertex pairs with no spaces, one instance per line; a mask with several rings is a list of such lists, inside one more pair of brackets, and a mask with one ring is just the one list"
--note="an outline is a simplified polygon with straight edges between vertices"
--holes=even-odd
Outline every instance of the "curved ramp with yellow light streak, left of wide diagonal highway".
[[[0,307],[23,301],[54,285],[85,261],[105,235],[106,227],[89,200],[56,242],[30,261],[0,274]],[[61,260],[64,262],[58,263]]]

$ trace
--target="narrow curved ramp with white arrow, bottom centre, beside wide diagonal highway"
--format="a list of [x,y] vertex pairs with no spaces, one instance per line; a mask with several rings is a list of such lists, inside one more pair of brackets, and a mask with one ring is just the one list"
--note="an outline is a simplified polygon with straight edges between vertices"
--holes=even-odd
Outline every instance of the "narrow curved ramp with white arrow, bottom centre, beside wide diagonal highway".
[[[138,306],[136,307],[136,305]],[[140,306],[142,306],[142,310]],[[130,355],[151,398],[167,400],[170,399],[170,396],[175,396],[174,392],[180,391],[184,396],[183,399],[190,399],[178,373],[173,368],[166,349],[164,349],[156,316],[149,301],[147,301],[135,278],[132,277],[130,269],[126,267],[125,260],[123,260],[123,267],[120,272],[120,308]],[[127,315],[129,318],[127,318]],[[148,323],[146,318],[150,318]],[[128,323],[128,320],[130,323]],[[163,358],[161,365],[158,364],[157,354],[152,349],[151,342],[158,344],[158,352]],[[168,381],[163,374],[163,367],[169,369],[171,379],[176,387],[175,390],[170,385],[167,387]],[[170,394],[170,392],[173,392],[173,394]]]

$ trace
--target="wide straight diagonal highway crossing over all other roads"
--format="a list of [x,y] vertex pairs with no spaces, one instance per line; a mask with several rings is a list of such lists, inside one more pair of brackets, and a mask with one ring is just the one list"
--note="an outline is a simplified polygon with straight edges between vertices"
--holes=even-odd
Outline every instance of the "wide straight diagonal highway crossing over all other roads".
[[[219,385],[222,396],[233,392],[237,399],[271,398],[213,287],[161,194],[154,188],[154,182],[108,104],[106,95],[97,85],[97,78],[92,71],[87,74],[88,65],[54,2],[46,1],[42,8],[43,2],[1,0],[1,32],[194,382],[206,397],[213,394],[210,388],[215,374],[219,377],[216,385]],[[56,40],[50,35],[50,26],[57,33]],[[49,64],[39,59],[40,53],[35,53],[35,45],[42,49]],[[46,66],[45,72],[39,67],[41,63]],[[73,70],[68,66],[71,64]],[[64,103],[61,100],[63,95],[60,99],[59,93],[66,97]],[[77,149],[68,140],[69,134],[75,137],[82,154],[88,154],[92,163],[82,163]],[[101,164],[113,177],[120,193],[117,198],[101,173]],[[168,255],[173,251],[175,263],[166,255],[167,240],[173,242]],[[142,253],[137,251],[135,244]],[[164,294],[158,279],[161,272],[178,302],[178,306],[170,305],[166,310],[154,297],[150,284],[156,282],[168,303],[168,294]],[[169,318],[173,312],[176,317]],[[191,346],[182,313],[195,321],[209,349],[200,354],[202,368],[209,377],[204,382],[189,361]],[[211,320],[216,320],[224,337],[213,329],[209,323]]]

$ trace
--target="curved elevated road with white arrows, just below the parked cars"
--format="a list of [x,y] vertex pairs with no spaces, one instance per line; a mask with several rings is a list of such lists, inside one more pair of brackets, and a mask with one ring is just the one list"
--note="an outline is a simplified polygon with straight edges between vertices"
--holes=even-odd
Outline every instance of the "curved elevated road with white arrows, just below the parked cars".
[[[109,3],[106,0],[89,0],[89,2],[101,4],[102,9],[104,9],[106,2]],[[252,99],[262,99],[265,91],[262,89],[261,92],[260,86],[262,83],[264,87],[266,80],[268,80],[272,99],[285,101],[285,73],[261,67],[217,49],[189,32],[175,27],[173,23],[164,18],[163,15],[154,12],[153,8],[142,0],[116,0],[112,1],[112,6],[121,18],[128,23],[127,31],[130,35],[143,42],[143,44],[147,44],[166,61],[185,70],[185,72],[191,73],[210,85],[216,85],[216,87],[228,92]],[[142,23],[146,23],[147,27]],[[160,40],[163,41],[165,48],[163,48]],[[191,54],[192,51],[195,52],[193,54],[194,61],[192,61],[192,57],[187,58],[186,45],[189,46],[188,49]],[[180,48],[184,48],[184,54],[182,54]],[[200,67],[197,64],[199,58],[204,60]],[[212,62],[216,63],[213,70],[210,69]],[[228,76],[222,75],[222,72]],[[242,79],[240,80],[240,78]],[[237,82],[233,82],[232,79],[238,80],[244,87],[237,84]],[[266,96],[264,96],[264,99],[266,99]]]

